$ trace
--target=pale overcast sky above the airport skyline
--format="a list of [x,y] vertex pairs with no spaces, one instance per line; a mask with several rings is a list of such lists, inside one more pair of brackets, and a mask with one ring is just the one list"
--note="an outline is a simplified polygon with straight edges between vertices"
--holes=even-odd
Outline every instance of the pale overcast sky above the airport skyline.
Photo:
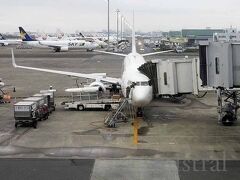
[[[141,31],[240,27],[239,0],[110,0],[111,29],[117,8]],[[0,32],[107,29],[106,0],[0,0]],[[240,28],[239,28],[240,29]]]

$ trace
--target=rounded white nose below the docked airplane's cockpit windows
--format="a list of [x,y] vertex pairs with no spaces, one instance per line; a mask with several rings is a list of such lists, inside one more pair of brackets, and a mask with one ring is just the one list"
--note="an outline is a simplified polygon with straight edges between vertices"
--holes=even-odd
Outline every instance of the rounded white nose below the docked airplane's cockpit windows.
[[132,91],[132,104],[136,107],[144,107],[152,101],[152,87],[139,86]]

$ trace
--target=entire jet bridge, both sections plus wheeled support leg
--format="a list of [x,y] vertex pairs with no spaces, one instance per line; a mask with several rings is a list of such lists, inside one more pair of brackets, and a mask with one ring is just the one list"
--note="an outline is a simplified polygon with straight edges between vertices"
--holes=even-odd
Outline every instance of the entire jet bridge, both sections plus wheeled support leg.
[[139,67],[154,96],[179,97],[216,90],[218,121],[231,125],[240,107],[240,43],[203,42],[199,59],[154,60]]

